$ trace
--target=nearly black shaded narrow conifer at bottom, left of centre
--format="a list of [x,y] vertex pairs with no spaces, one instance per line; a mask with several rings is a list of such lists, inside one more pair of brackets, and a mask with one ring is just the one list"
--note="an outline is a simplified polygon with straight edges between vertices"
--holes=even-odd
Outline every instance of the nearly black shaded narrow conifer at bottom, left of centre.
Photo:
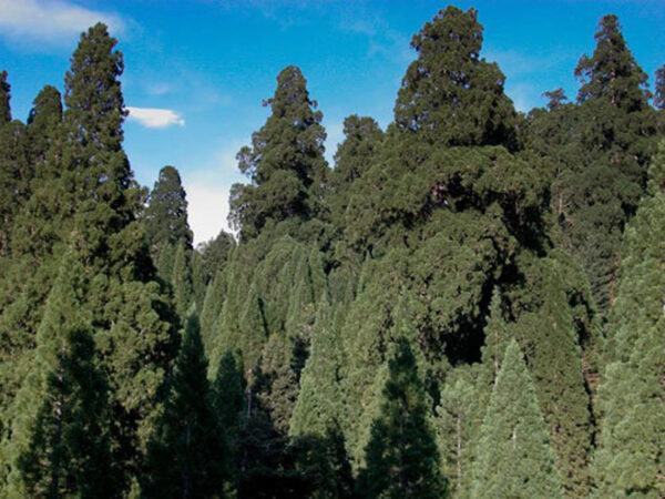
[[149,445],[146,497],[213,498],[224,492],[224,429],[206,374],[198,318],[193,315],[168,380],[164,414]]

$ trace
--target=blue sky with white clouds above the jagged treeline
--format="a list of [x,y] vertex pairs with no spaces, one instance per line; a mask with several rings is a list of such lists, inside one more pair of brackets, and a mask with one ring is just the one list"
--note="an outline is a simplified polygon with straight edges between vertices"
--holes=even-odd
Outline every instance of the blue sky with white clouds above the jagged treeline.
[[[13,116],[25,120],[44,84],[62,90],[79,34],[102,20],[124,53],[132,115],[125,150],[152,187],[165,164],[183,176],[196,242],[226,226],[228,187],[244,179],[235,153],[268,110],[275,77],[297,64],[318,101],[330,159],[346,115],[386,126],[415,52],[411,35],[444,2],[0,0],[0,70]],[[665,1],[460,1],[479,11],[482,55],[499,63],[507,93],[526,111],[545,90],[575,96],[573,69],[593,51],[601,16],[616,13],[637,62],[653,80],[665,63]]]

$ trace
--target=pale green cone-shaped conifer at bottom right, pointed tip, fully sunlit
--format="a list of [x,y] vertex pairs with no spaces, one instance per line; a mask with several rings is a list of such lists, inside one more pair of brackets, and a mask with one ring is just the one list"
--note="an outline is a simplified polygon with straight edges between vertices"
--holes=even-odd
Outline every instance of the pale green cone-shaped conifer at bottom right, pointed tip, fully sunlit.
[[472,497],[562,497],[545,421],[515,340],[505,357],[484,417]]

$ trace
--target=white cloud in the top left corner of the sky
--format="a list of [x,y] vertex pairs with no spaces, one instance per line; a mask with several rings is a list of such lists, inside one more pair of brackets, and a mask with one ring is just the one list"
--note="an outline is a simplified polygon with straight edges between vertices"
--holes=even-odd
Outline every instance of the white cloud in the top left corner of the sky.
[[0,29],[14,38],[71,40],[100,21],[114,34],[125,28],[116,14],[85,9],[66,1],[0,0]]

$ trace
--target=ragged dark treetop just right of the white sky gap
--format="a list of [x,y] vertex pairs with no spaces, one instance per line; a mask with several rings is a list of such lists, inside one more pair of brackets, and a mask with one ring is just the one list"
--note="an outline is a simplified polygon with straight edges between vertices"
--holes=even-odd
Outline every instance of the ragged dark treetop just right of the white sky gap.
[[229,221],[243,240],[255,237],[268,220],[307,220],[317,211],[327,170],[326,132],[306,83],[295,65],[279,72],[275,95],[265,102],[270,116],[252,135],[252,146],[237,154],[250,184],[232,187]]

